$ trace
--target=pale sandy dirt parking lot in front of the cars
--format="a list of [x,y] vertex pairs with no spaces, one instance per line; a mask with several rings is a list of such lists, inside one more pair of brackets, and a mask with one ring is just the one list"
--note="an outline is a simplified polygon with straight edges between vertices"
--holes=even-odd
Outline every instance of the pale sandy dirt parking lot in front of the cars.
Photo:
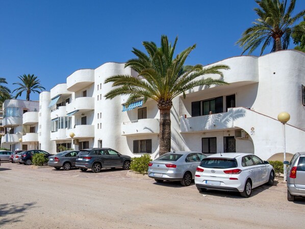
[[305,199],[286,184],[238,193],[199,193],[194,184],[157,184],[122,169],[99,173],[3,162],[1,228],[304,228]]

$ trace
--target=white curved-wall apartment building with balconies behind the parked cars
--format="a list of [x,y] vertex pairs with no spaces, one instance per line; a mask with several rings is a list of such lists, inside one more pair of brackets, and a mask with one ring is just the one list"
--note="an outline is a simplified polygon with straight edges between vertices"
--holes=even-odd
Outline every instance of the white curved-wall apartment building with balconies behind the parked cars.
[[[196,87],[186,92],[186,99],[182,95],[173,99],[172,150],[208,155],[251,152],[264,160],[283,160],[283,124],[277,115],[288,112],[287,158],[304,151],[304,53],[283,50],[262,57],[232,57],[215,64],[231,67],[223,72],[223,80],[230,84]],[[143,104],[140,100],[125,107],[125,96],[106,100],[104,95],[112,87],[104,81],[116,74],[137,77],[123,63],[106,63],[96,69],[77,70],[66,83],[40,93],[39,148],[54,154],[59,145],[75,149],[103,146],[131,157],[148,153],[156,158],[160,118],[156,102]],[[34,125],[22,124],[29,123]],[[2,141],[2,146],[6,143]]]

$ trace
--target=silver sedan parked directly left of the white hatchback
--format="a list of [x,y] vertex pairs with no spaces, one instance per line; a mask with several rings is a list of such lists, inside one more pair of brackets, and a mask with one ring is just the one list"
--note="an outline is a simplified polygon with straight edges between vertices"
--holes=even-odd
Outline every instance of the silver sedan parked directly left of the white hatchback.
[[183,186],[189,186],[197,166],[206,157],[201,152],[167,152],[148,164],[148,176],[156,182],[180,181]]

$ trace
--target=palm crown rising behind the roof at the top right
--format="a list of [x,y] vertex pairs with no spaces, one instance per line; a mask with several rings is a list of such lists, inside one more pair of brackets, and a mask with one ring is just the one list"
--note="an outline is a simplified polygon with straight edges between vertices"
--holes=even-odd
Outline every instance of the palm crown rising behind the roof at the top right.
[[253,26],[243,32],[242,37],[236,42],[243,47],[244,54],[248,50],[251,54],[253,50],[262,44],[261,54],[265,48],[272,45],[271,53],[287,49],[292,34],[304,34],[305,27],[296,27],[294,23],[305,15],[305,10],[292,16],[296,0],[291,0],[286,10],[287,0],[255,0],[260,8],[255,8],[259,16]]

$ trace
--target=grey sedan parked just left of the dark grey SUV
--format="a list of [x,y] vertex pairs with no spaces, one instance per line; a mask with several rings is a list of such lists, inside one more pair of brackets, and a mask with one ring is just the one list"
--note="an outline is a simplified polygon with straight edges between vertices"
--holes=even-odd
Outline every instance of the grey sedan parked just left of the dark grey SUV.
[[55,167],[56,169],[60,169],[62,167],[64,170],[70,170],[70,168],[75,167],[75,161],[79,152],[79,150],[67,150],[59,152],[58,154],[49,157],[47,165]]

